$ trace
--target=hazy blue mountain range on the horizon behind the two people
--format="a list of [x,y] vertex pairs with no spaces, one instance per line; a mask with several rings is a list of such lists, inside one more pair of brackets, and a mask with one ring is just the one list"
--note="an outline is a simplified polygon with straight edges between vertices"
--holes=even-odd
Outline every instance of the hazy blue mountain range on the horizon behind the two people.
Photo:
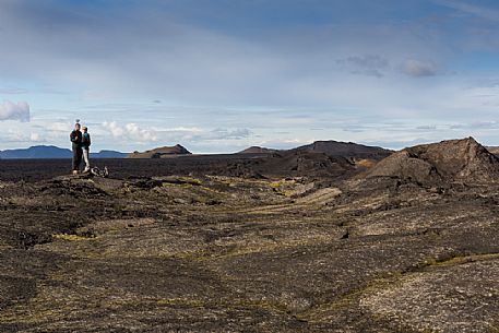
[[[68,148],[60,148],[54,145],[36,145],[28,148],[0,151],[0,159],[22,158],[72,158],[73,153]],[[126,153],[115,151],[100,151],[91,153],[91,158],[123,158]]]

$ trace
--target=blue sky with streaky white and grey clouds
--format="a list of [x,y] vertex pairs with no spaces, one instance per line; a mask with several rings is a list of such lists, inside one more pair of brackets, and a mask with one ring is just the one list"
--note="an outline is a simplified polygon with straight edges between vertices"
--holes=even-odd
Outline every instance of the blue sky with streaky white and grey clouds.
[[499,2],[0,0],[0,150],[499,145]]

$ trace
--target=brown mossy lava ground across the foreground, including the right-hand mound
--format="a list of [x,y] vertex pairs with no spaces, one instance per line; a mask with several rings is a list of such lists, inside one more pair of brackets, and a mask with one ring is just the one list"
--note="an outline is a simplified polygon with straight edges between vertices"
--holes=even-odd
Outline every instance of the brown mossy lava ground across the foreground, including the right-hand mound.
[[[0,332],[499,331],[494,156],[464,140],[367,171],[306,157],[324,174],[138,176],[136,160],[4,178]],[[335,165],[352,176],[332,181]]]

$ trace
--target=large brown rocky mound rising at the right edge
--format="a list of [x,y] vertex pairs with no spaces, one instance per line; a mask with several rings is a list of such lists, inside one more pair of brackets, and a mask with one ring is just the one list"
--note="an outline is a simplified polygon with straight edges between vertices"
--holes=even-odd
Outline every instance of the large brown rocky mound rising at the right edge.
[[384,158],[370,177],[396,177],[420,183],[499,180],[499,158],[473,138],[404,148]]

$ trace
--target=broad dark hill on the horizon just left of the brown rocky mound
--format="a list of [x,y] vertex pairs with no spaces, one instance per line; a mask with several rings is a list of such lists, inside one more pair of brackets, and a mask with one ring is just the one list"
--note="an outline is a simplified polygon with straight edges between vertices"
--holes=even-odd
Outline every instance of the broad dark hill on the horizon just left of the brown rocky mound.
[[353,142],[338,141],[316,141],[311,144],[290,150],[290,152],[293,151],[323,153],[328,156],[341,156],[347,158],[370,158],[377,160],[383,159],[393,153],[392,151],[378,146],[368,146]]

